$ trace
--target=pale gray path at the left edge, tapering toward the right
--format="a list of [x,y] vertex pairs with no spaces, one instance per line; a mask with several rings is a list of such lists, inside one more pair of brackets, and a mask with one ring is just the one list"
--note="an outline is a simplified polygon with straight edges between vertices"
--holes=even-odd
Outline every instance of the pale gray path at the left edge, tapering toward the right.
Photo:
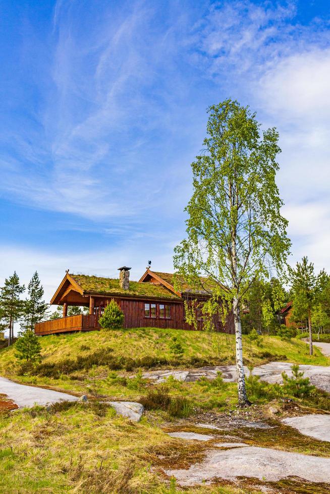
[[35,388],[33,386],[24,386],[23,384],[14,383],[13,381],[2,377],[0,377],[0,393],[7,395],[19,408],[31,407],[35,404],[46,405],[49,403],[57,403],[58,401],[78,400],[76,396],[67,393],[60,393],[44,388]]

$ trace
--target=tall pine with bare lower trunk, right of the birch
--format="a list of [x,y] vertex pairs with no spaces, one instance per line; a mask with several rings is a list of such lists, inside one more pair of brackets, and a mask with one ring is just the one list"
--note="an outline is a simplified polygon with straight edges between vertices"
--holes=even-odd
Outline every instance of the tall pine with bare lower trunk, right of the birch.
[[289,268],[291,286],[293,292],[293,306],[305,311],[308,318],[309,331],[309,354],[313,354],[312,340],[312,308],[317,294],[324,284],[326,274],[322,270],[318,276],[314,272],[314,264],[308,263],[307,256],[302,258],[301,263],[296,263],[296,268]]

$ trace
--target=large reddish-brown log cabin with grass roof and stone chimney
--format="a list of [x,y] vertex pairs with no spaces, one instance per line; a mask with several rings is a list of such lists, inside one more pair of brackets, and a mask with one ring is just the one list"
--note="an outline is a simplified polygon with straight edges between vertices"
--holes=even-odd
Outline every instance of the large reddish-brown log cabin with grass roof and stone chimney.
[[[139,281],[129,279],[129,270],[119,268],[119,279],[101,278],[66,272],[51,304],[63,305],[63,318],[44,321],[35,325],[36,335],[94,331],[100,329],[98,319],[104,307],[115,299],[125,316],[125,328],[172,328],[193,330],[185,319],[184,300],[193,304],[196,311],[197,329],[203,329],[201,302],[210,297],[207,278],[201,278],[201,289],[194,290],[180,280],[180,291],[175,290],[173,274],[146,270]],[[207,287],[207,289],[203,289]],[[89,314],[67,316],[68,306],[89,307]],[[217,331],[234,333],[233,317],[225,325],[220,317],[213,318]]]

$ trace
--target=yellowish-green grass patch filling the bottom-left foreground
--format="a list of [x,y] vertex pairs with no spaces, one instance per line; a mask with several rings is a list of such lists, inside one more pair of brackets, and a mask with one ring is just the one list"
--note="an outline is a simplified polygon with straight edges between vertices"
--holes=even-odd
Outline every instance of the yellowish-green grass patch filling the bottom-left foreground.
[[[90,404],[42,407],[0,416],[1,492],[112,492],[121,494],[178,492],[150,465],[158,455],[184,466],[203,458],[199,444],[183,444],[146,418],[133,424],[101,414]],[[243,492],[232,487],[201,487],[187,493]]]

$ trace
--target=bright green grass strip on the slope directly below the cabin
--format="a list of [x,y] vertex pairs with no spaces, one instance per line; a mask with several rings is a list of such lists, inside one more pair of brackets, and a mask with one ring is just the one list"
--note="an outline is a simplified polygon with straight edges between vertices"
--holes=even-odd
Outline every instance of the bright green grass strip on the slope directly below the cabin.
[[[137,328],[121,331],[92,331],[86,333],[60,334],[40,337],[42,358],[45,362],[56,362],[65,358],[76,358],[79,354],[86,354],[100,348],[111,347],[114,354],[140,358],[155,356],[169,358],[176,356],[172,353],[173,337],[183,347],[182,361],[191,357],[217,360],[224,363],[234,363],[235,339],[234,335],[224,333],[205,333],[202,331],[183,331],[175,329]],[[276,336],[263,336],[262,346],[248,341],[243,336],[244,356],[254,364],[266,360],[262,352],[273,355],[286,355],[287,361],[313,365],[329,365],[330,358],[322,355],[315,348],[314,355],[308,355],[308,346],[298,339],[281,340]],[[0,350],[0,368],[12,363],[15,347]],[[268,359],[269,360],[269,359]]]

